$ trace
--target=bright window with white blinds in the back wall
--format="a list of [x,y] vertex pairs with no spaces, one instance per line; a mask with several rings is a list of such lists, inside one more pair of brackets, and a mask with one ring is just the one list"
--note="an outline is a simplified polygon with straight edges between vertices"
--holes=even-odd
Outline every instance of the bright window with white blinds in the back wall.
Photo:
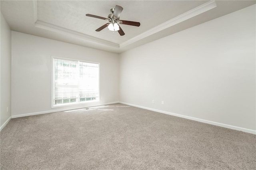
[[52,57],[52,104],[99,101],[99,64]]

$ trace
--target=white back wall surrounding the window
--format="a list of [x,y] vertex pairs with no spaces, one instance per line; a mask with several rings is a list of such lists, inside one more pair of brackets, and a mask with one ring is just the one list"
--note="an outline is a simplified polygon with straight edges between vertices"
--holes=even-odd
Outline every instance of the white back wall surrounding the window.
[[[100,63],[100,103],[51,108],[51,55]],[[119,100],[118,54],[12,31],[12,116]]]

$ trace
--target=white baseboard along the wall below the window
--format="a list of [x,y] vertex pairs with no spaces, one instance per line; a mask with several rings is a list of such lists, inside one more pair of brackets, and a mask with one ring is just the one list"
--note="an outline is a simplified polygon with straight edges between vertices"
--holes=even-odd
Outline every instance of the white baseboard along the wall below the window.
[[42,111],[42,112],[34,112],[34,113],[26,113],[26,114],[21,114],[21,115],[12,115],[12,118],[17,118],[17,117],[26,117],[26,116],[33,116],[33,115],[42,115],[46,113],[54,113],[54,112],[62,112],[62,111],[68,111],[68,110],[75,110],[75,109],[82,109],[82,108],[87,108],[87,107],[95,107],[95,106],[102,106],[102,105],[111,105],[111,104],[116,104],[119,103],[118,101],[116,102],[111,102],[111,103],[98,103],[96,105],[86,105],[86,106],[80,106],[80,107],[72,107],[71,108],[65,108],[65,109],[54,109],[50,111]]

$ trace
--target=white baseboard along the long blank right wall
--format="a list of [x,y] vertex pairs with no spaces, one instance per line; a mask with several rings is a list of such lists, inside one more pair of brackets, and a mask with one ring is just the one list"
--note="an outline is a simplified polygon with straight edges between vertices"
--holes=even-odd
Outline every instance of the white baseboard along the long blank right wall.
[[164,113],[164,114],[167,114],[167,115],[172,115],[172,116],[176,116],[176,117],[182,117],[182,118],[190,119],[190,120],[193,120],[193,121],[198,121],[198,122],[202,122],[202,123],[208,123],[210,125],[216,125],[216,126],[219,126],[219,127],[230,128],[230,129],[234,129],[234,130],[240,130],[240,131],[243,131],[243,132],[256,134],[256,130],[252,130],[252,129],[248,129],[248,128],[236,127],[236,126],[232,126],[232,125],[226,125],[226,124],[223,124],[223,123],[207,121],[207,120],[204,120],[204,119],[199,119],[199,118],[195,118],[195,117],[180,115],[180,114],[176,114],[176,113],[170,113],[170,112],[161,111],[161,110],[158,110],[158,109],[152,109],[152,108],[149,108],[149,107],[133,105],[133,104],[130,104],[130,103],[124,103],[124,102],[119,102],[119,103],[122,103],[124,105],[130,105],[130,106],[134,106],[134,107],[139,107],[139,108],[142,108],[142,109],[147,109],[147,110],[150,110],[150,111]]

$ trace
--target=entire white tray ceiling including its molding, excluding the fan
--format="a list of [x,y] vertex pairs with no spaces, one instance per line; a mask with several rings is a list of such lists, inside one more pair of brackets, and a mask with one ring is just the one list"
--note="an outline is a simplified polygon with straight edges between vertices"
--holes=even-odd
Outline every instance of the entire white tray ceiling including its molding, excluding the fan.
[[[11,30],[74,43],[114,53],[180,32],[255,4],[252,0],[1,0],[1,12]],[[95,30],[108,21],[110,8],[122,6],[121,20],[140,22],[140,27],[120,24],[125,32]]]

